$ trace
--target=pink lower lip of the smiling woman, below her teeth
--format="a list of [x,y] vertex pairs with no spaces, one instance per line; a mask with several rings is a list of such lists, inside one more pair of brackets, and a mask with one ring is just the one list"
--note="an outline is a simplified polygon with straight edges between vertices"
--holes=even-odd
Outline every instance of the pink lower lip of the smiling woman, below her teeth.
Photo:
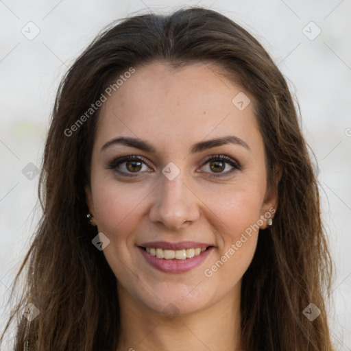
[[177,260],[176,258],[173,258],[173,260],[165,260],[165,258],[152,256],[152,254],[147,253],[142,247],[138,247],[138,250],[152,267],[166,273],[184,273],[185,271],[190,271],[198,265],[201,265],[214,248],[213,246],[208,247],[208,249],[201,254],[186,258],[185,260]]

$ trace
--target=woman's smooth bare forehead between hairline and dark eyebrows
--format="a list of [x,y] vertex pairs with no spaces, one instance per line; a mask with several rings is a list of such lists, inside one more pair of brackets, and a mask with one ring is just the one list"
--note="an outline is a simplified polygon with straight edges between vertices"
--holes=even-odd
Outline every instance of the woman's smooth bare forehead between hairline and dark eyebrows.
[[248,94],[213,66],[171,69],[154,62],[135,70],[102,106],[97,144],[123,135],[189,146],[206,136],[231,133],[261,143],[252,102],[242,109]]

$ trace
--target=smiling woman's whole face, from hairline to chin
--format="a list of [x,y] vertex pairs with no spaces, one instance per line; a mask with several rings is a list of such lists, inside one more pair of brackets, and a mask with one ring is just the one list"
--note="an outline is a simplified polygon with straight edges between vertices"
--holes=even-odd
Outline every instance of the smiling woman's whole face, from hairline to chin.
[[266,184],[242,88],[203,64],[136,67],[102,106],[86,187],[119,293],[180,313],[238,296],[276,206]]

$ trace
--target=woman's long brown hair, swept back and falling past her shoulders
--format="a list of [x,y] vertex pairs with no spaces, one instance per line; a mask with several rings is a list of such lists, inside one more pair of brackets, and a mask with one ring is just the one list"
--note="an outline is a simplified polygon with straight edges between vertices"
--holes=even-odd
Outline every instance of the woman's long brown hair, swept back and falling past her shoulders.
[[[25,341],[36,351],[117,348],[117,281],[104,254],[91,243],[97,229],[86,221],[84,195],[100,108],[91,115],[86,111],[121,73],[156,60],[175,69],[205,62],[242,86],[254,97],[269,182],[275,165],[282,170],[274,226],[259,235],[243,276],[243,349],[333,350],[324,304],[332,261],[316,175],[289,88],[255,38],[226,16],[203,8],[113,23],[62,80],[40,174],[43,216],[14,280],[16,286],[27,267],[25,289],[5,326],[6,331],[19,316],[14,350],[22,351]],[[84,114],[84,123],[75,124]],[[30,325],[21,314],[29,302],[40,311]],[[310,303],[321,311],[313,321],[303,313]]]

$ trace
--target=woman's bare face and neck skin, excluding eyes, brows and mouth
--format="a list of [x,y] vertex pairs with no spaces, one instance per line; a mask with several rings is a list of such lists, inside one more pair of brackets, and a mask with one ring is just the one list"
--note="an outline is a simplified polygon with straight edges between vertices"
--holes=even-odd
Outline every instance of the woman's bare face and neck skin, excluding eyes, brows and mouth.
[[[244,110],[232,104],[242,91],[204,64],[173,70],[154,62],[136,67],[102,107],[86,198],[99,232],[110,239],[103,252],[118,280],[122,337],[117,351],[241,350],[241,279],[254,256],[258,231],[212,276],[204,271],[278,203],[277,187],[267,189],[253,104]],[[228,135],[250,149],[226,144],[190,152],[199,141]],[[125,145],[101,151],[117,136],[148,141],[156,153]],[[233,167],[219,160],[215,164],[225,166],[219,173],[227,174],[212,178],[218,173],[207,160],[218,154],[242,169],[229,174]],[[117,167],[135,177],[108,168],[128,155],[147,160],[142,167],[126,168],[125,162]],[[173,180],[162,173],[169,162],[180,170]],[[260,227],[266,228],[267,221]],[[191,271],[170,274],[145,261],[136,245],[146,241],[198,241],[215,250]],[[172,305],[175,315],[169,317],[163,311]]]

